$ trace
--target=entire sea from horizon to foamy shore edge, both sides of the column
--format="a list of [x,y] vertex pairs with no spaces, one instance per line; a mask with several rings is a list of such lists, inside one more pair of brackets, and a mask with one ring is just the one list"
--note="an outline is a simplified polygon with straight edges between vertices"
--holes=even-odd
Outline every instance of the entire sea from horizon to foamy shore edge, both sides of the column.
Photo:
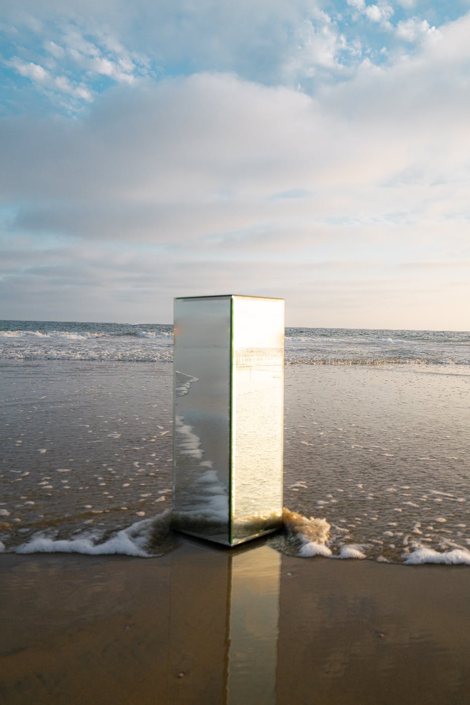
[[[172,346],[169,324],[0,321],[0,550],[178,544]],[[271,546],[470,565],[469,441],[469,332],[287,328]]]

